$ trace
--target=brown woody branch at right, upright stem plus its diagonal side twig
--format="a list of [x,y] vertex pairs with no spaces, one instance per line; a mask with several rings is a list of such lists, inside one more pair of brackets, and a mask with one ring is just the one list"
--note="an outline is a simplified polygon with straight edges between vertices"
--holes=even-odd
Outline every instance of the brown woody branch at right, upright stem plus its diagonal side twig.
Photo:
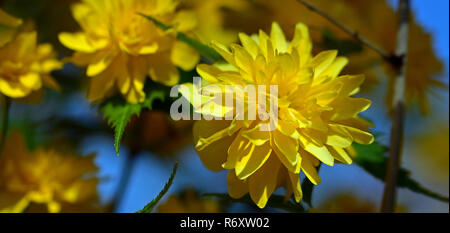
[[315,7],[305,0],[297,0],[305,5],[311,11],[314,11],[326,18],[328,21],[341,28],[343,31],[351,35],[361,44],[369,47],[377,52],[384,60],[389,62],[396,69],[393,106],[393,119],[391,126],[391,139],[389,160],[386,167],[385,189],[383,194],[383,202],[381,212],[394,212],[396,202],[396,186],[398,180],[398,170],[400,168],[400,155],[403,145],[403,128],[405,118],[404,96],[405,96],[405,80],[406,80],[406,61],[408,51],[408,34],[409,34],[409,0],[400,0],[398,7],[399,29],[397,31],[397,44],[395,53],[387,53],[366,38],[361,36],[357,31],[328,15],[325,11]]

